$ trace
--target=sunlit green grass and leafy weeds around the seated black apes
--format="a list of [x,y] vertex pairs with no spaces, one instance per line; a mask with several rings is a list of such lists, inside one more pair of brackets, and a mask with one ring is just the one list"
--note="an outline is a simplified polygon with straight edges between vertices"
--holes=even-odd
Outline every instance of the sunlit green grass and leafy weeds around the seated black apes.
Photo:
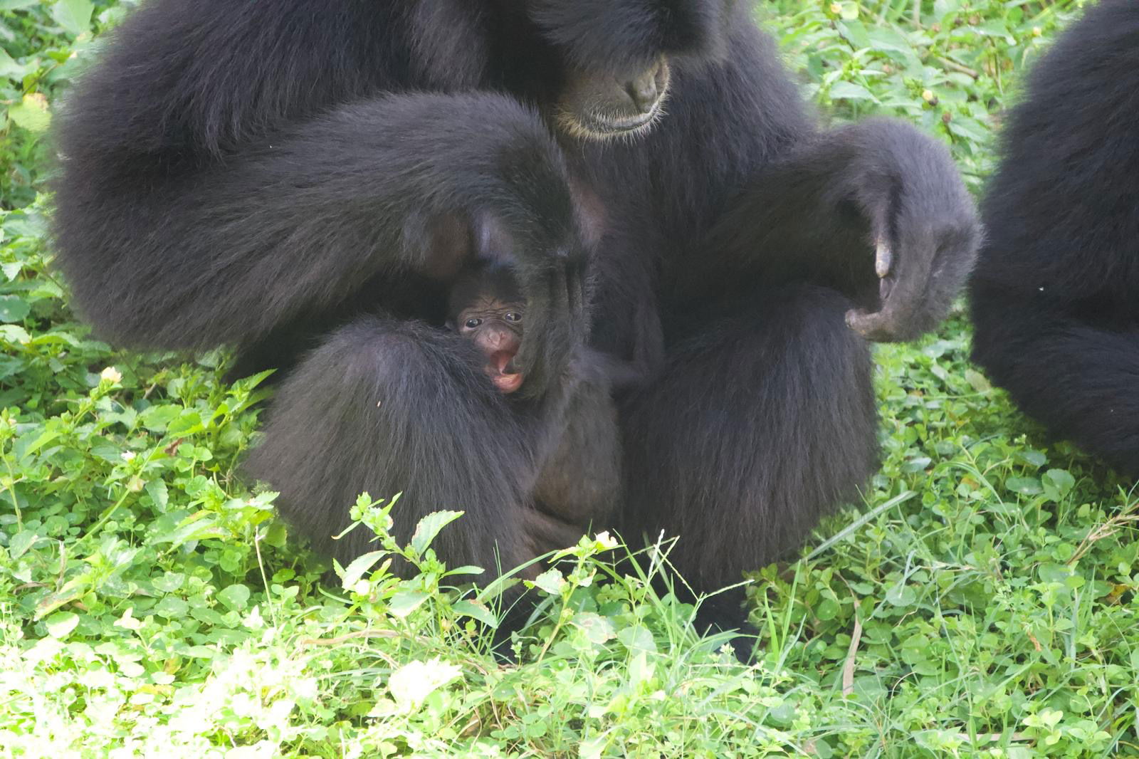
[[[759,13],[810,97],[920,124],[976,188],[1076,5]],[[377,555],[321,585],[233,474],[256,381],[91,340],[50,268],[43,129],[121,11],[0,0],[0,757],[1139,756],[1139,495],[1046,444],[969,365],[959,315],[878,349],[883,470],[754,576],[752,668],[648,587],[666,547],[630,577],[604,538],[568,549],[516,667],[476,622],[493,594],[452,590],[469,570],[431,553],[451,514],[383,544],[415,580]]]

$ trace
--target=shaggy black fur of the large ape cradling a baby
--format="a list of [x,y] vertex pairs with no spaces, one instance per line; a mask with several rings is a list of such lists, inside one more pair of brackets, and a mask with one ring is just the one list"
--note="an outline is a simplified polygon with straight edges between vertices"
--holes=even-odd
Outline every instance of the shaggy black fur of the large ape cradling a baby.
[[[526,558],[518,509],[556,441],[609,434],[565,432],[550,406],[591,323],[591,348],[628,368],[617,521],[682,533],[673,560],[711,589],[796,546],[872,471],[860,334],[935,325],[978,237],[941,146],[885,121],[820,132],[749,16],[732,0],[149,0],[64,119],[59,261],[121,343],[229,343],[248,368],[317,345],[254,471],[318,545],[363,489],[405,491],[402,534],[464,508],[453,564],[492,565],[495,545]],[[662,59],[650,131],[587,139],[565,119],[592,101],[582,82]],[[456,264],[497,254],[527,297],[517,406],[437,328]],[[360,317],[377,299],[388,313]]]

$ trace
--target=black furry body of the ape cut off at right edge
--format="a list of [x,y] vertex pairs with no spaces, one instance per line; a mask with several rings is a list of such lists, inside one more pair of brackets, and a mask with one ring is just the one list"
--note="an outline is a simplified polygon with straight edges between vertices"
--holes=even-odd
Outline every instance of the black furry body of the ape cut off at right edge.
[[1013,399],[1139,476],[1139,5],[1090,8],[1009,115],[972,285],[974,358]]

